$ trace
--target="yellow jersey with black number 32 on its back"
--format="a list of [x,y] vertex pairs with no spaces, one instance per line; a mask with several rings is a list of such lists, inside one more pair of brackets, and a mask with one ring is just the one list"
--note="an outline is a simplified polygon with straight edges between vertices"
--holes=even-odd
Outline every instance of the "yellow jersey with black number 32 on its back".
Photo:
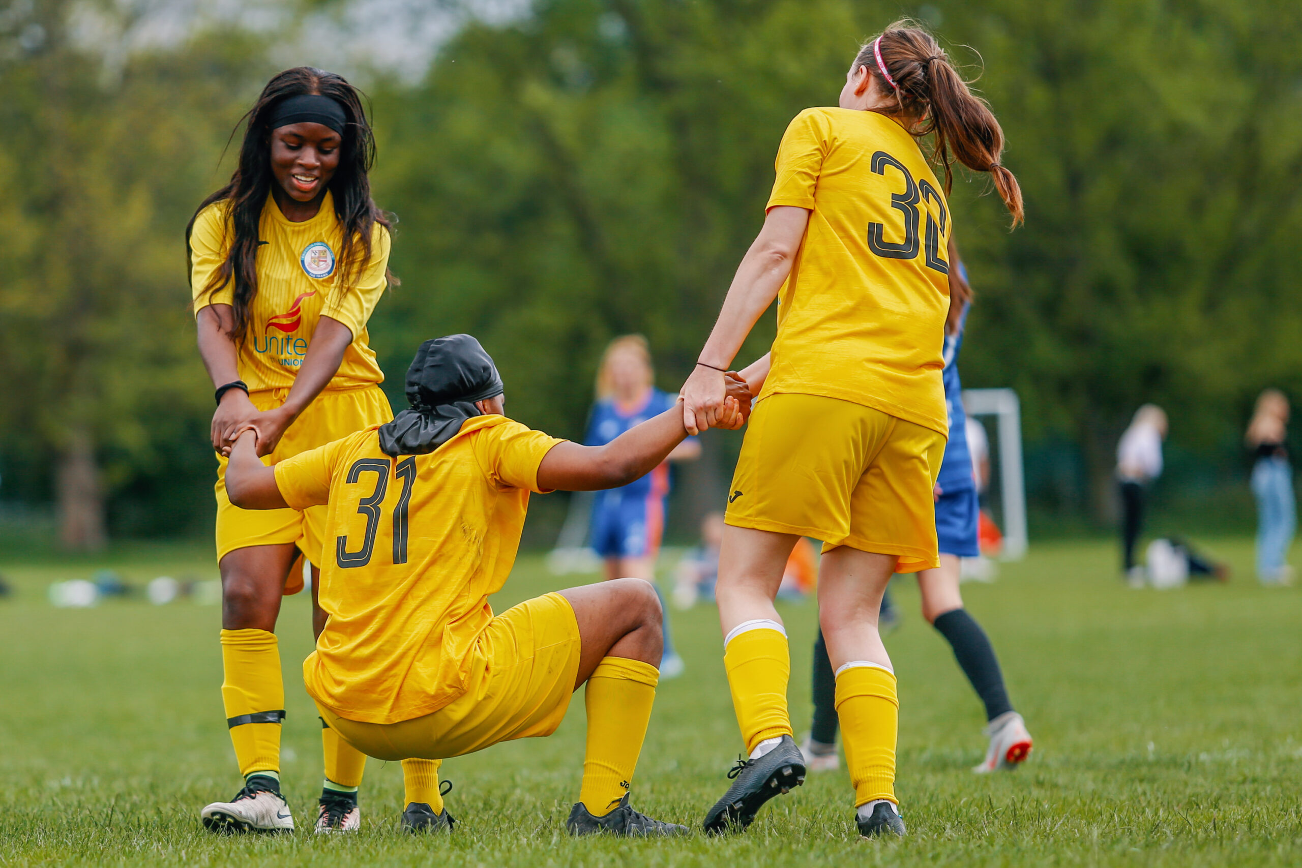
[[768,208],[811,213],[759,397],[840,398],[948,435],[949,206],[917,141],[876,112],[810,108],[776,169]]

